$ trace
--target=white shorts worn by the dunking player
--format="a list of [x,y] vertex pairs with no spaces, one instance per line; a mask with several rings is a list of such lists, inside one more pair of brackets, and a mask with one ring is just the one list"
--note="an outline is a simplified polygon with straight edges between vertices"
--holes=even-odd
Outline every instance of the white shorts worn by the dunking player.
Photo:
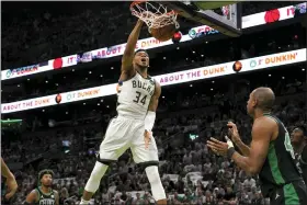
[[123,116],[112,118],[100,145],[100,161],[117,160],[130,148],[136,163],[158,162],[158,149],[154,137],[151,137],[148,148],[145,148],[144,126],[144,119],[132,119]]

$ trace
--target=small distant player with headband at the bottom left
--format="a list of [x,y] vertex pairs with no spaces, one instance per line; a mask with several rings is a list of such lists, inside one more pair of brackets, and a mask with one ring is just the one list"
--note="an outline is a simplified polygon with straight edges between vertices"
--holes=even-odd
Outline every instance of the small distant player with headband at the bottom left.
[[38,186],[33,190],[24,202],[24,205],[59,205],[58,192],[52,189],[54,172],[42,170],[38,173]]

